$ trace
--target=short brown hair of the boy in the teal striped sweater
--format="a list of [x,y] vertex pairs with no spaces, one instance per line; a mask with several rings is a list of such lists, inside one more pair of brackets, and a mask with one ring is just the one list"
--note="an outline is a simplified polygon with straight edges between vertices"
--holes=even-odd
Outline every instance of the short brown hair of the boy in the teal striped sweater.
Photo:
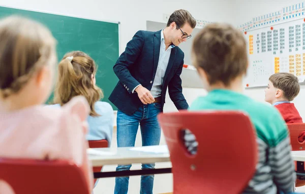
[[248,66],[246,41],[240,31],[229,24],[212,23],[204,27],[193,42],[193,59],[207,74],[210,85],[245,74]]

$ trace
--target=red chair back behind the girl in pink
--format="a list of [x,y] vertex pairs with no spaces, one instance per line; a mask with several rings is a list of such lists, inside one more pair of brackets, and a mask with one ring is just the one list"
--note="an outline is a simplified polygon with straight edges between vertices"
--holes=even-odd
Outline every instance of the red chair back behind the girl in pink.
[[0,158],[0,179],[16,194],[89,194],[80,167],[72,161]]

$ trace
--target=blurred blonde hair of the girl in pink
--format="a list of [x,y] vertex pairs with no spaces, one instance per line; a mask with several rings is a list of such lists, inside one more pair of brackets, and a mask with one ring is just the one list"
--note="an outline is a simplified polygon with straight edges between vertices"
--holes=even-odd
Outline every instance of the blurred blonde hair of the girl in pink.
[[0,37],[0,94],[7,98],[56,56],[56,41],[45,26],[19,16],[0,20]]

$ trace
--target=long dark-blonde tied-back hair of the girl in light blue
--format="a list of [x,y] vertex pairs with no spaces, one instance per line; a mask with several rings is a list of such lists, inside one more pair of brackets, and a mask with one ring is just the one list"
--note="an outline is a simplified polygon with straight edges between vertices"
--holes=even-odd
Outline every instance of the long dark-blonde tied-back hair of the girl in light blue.
[[86,53],[73,51],[65,54],[58,65],[54,103],[64,105],[75,96],[84,96],[90,105],[90,116],[100,116],[94,108],[95,102],[103,98],[102,90],[92,81],[96,72],[94,60]]

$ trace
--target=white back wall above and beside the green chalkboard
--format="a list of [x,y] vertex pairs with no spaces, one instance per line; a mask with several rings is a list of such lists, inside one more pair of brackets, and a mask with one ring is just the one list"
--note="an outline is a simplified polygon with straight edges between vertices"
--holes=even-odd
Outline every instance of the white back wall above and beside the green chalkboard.
[[[140,1],[140,0],[0,0],[0,5],[42,11],[55,14],[71,15],[89,19],[120,21],[120,53],[125,50],[127,42],[138,30],[146,30],[146,20],[164,22],[163,14],[171,14],[176,9],[186,9],[196,19],[208,21],[234,21],[230,15],[233,5],[225,0],[176,0]],[[203,89],[184,89],[187,101],[191,103],[198,95],[205,94]],[[165,111],[174,111],[167,96]]]

